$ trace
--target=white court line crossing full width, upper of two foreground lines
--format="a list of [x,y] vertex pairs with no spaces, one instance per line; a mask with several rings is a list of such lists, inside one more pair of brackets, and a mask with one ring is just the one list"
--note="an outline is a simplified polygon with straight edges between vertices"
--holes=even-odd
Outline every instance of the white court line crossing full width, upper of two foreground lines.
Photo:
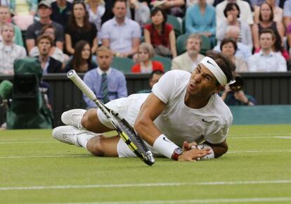
[[105,189],[105,188],[131,188],[131,187],[159,187],[159,186],[219,186],[219,185],[254,185],[254,184],[290,184],[291,180],[273,181],[211,181],[193,183],[145,183],[145,184],[91,184],[66,186],[9,186],[0,187],[0,191],[20,190],[46,190],[46,189]]

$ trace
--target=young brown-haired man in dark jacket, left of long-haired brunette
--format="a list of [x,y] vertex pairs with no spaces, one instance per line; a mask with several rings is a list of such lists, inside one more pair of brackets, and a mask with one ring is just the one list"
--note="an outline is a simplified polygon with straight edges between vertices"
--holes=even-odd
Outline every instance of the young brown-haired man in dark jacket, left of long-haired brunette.
[[46,34],[37,37],[37,47],[39,49],[39,62],[43,70],[43,75],[48,73],[63,72],[62,63],[49,56],[53,47],[53,39]]

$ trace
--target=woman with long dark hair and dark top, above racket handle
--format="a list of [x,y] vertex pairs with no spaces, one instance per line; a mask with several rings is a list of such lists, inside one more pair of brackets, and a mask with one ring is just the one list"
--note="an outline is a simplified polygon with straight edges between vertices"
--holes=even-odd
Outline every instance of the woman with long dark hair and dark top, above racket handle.
[[92,62],[92,53],[90,44],[84,40],[80,40],[75,45],[75,53],[72,59],[65,66],[65,72],[75,70],[76,72],[87,72],[96,68],[95,62]]

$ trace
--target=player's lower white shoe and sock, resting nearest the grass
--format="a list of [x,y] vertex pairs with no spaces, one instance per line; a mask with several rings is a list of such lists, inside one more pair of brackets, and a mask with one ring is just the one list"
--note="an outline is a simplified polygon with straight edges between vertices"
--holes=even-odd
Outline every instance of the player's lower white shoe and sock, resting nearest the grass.
[[80,130],[72,125],[65,125],[54,128],[52,135],[54,139],[58,139],[58,141],[61,141],[65,144],[74,144],[75,146],[80,146],[77,141],[78,136],[92,138],[97,134],[83,129]]

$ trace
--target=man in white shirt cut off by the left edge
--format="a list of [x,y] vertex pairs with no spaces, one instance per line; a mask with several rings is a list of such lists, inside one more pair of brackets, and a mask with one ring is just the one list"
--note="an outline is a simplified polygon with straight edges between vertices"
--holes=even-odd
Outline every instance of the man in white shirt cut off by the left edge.
[[13,75],[14,60],[25,58],[25,48],[13,43],[14,28],[11,23],[2,24],[0,42],[0,74]]

